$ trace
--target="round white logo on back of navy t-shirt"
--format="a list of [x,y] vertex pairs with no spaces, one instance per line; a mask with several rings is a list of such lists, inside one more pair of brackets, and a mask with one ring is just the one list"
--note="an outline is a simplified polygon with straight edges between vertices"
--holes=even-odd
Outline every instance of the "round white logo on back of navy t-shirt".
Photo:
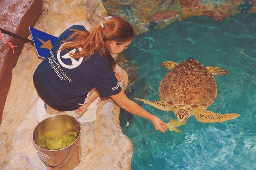
[[[64,43],[65,44],[65,43]],[[63,44],[63,45],[64,45]],[[60,49],[62,48],[62,45],[60,46]],[[82,50],[82,48],[77,48],[79,51]],[[75,53],[77,51],[76,48],[72,49],[70,52]],[[83,57],[79,58],[79,59],[75,59],[72,58],[71,55],[69,53],[62,53],[61,50],[58,50],[57,53],[57,59],[60,63],[60,65],[62,67],[68,68],[68,69],[72,69],[72,68],[76,68],[78,67],[82,61],[83,61]]]

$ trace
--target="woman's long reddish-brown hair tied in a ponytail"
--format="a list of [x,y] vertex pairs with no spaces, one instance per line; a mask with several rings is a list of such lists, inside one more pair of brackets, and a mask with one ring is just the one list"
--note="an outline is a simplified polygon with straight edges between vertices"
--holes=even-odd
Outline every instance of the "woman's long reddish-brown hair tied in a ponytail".
[[132,40],[135,36],[134,30],[130,23],[119,18],[113,17],[103,22],[104,28],[96,26],[91,33],[86,31],[72,30],[74,33],[66,40],[72,38],[74,41],[62,44],[62,49],[79,48],[82,50],[77,53],[69,52],[73,58],[85,57],[87,60],[93,53],[99,53],[105,57],[112,67],[116,65],[110,51],[110,42],[114,41],[118,45]]

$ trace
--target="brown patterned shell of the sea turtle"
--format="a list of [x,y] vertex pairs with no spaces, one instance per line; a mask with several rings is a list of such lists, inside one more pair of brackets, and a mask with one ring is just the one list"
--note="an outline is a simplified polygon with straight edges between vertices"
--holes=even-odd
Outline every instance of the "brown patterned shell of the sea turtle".
[[208,107],[216,95],[212,73],[192,58],[169,70],[159,87],[160,99],[176,108]]

